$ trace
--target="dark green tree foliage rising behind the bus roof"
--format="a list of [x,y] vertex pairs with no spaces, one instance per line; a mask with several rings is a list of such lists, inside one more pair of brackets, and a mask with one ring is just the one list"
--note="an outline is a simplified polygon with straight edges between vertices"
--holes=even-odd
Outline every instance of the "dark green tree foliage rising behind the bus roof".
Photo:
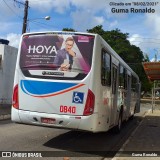
[[128,65],[138,74],[142,83],[142,91],[150,91],[152,84],[149,82],[142,62],[149,61],[149,57],[144,57],[139,47],[131,45],[127,39],[129,34],[122,33],[119,29],[105,31],[102,25],[87,30],[89,33],[97,33],[128,63]]

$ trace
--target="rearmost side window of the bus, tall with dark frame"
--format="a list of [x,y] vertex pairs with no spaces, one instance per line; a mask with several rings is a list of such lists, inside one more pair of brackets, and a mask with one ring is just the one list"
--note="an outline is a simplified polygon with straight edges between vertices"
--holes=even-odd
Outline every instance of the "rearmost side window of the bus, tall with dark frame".
[[111,85],[111,56],[102,50],[101,58],[101,83],[103,86]]

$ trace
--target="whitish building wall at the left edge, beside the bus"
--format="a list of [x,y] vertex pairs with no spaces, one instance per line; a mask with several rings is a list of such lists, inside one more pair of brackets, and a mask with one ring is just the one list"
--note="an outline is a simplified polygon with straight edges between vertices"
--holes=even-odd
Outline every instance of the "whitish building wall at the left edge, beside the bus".
[[11,105],[18,49],[0,39],[0,105]]

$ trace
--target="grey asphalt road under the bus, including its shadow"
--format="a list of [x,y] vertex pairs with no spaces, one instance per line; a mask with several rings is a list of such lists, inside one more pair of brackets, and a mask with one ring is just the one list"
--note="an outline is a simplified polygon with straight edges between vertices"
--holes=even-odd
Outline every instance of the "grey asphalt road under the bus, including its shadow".
[[[114,157],[116,151],[122,147],[139,125],[149,107],[150,105],[142,105],[141,112],[136,114],[133,120],[123,124],[120,134],[114,134],[112,130],[104,133],[88,133],[15,124],[10,120],[1,121],[0,151],[46,151],[43,154],[47,154],[48,158],[45,157],[44,159],[70,157],[70,160],[101,160],[108,157],[108,153],[112,153],[111,157]],[[49,156],[51,157],[49,158]]]

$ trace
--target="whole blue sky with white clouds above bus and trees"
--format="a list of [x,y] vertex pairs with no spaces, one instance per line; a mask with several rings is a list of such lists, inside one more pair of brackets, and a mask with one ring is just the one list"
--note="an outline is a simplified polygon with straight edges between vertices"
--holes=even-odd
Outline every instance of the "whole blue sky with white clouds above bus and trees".
[[[27,32],[61,31],[63,28],[86,32],[97,25],[102,25],[105,31],[118,28],[129,33],[130,43],[140,47],[151,61],[155,55],[160,59],[160,1],[136,2],[29,0]],[[0,39],[9,40],[9,45],[16,48],[22,34],[24,3],[25,0],[0,0]],[[142,10],[145,13],[140,13]],[[51,19],[45,20],[46,16]]]

